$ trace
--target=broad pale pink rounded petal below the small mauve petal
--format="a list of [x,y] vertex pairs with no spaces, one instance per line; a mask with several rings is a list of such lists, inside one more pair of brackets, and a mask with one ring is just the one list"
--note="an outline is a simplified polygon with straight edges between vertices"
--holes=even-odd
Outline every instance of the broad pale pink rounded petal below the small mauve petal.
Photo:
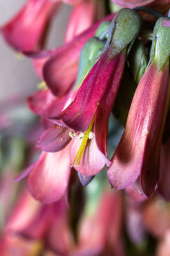
[[57,153],[41,153],[27,179],[27,188],[36,200],[49,204],[66,193],[71,171],[70,148],[68,145]]

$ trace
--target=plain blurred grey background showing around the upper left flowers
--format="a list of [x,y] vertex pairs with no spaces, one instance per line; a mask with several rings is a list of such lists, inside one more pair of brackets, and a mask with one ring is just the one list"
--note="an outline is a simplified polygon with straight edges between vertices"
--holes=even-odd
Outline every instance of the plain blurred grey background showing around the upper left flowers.
[[[24,0],[1,1],[0,27],[9,21],[25,2]],[[48,48],[62,44],[71,8],[68,4],[63,4],[54,18],[46,45]],[[38,83],[39,79],[32,70],[31,60],[19,56],[0,36],[0,102],[18,93],[27,97],[31,92],[36,91]]]

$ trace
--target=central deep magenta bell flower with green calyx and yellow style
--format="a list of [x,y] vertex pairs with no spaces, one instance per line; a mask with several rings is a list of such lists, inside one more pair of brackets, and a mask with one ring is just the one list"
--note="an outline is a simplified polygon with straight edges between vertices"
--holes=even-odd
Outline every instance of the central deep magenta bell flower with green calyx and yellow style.
[[[136,26],[131,30],[134,24]],[[94,169],[83,173],[83,170],[78,168],[93,125],[96,145],[103,154],[105,163],[110,165],[110,160],[106,157],[108,118],[124,70],[127,46],[138,35],[140,26],[141,17],[133,10],[123,9],[115,16],[104,52],[85,77],[75,99],[60,115],[50,118],[54,123],[69,127],[73,131],[86,131],[80,150],[72,163],[74,168],[84,175],[90,176],[99,172]]]

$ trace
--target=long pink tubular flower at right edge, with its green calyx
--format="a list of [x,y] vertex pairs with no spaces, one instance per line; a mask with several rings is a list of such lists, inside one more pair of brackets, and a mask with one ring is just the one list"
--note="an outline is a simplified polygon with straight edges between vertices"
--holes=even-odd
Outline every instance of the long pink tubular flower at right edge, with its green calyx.
[[161,48],[162,42],[169,42],[169,28],[163,22],[159,19],[155,25],[155,56],[138,84],[125,132],[108,168],[115,189],[126,188],[140,177],[146,196],[152,195],[161,175],[160,149],[169,103],[169,49]]

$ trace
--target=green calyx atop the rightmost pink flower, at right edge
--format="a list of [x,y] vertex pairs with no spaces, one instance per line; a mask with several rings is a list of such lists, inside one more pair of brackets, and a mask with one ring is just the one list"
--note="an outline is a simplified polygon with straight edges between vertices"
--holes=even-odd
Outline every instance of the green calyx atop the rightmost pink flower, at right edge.
[[153,41],[151,48],[150,63],[153,58],[157,60],[159,71],[161,71],[170,56],[170,20],[167,18],[160,18],[155,24],[153,30]]

